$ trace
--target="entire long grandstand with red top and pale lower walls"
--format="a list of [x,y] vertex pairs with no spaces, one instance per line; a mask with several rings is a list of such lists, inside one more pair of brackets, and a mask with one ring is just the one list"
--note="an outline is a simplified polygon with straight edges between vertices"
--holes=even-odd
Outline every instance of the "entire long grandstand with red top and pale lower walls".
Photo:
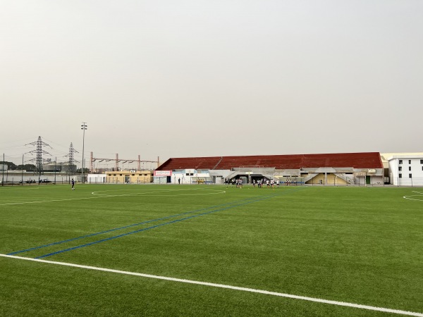
[[[157,170],[168,171],[164,182],[185,183],[279,180],[316,185],[383,185],[384,166],[379,152],[209,156],[171,158]],[[170,175],[173,175],[171,177]]]

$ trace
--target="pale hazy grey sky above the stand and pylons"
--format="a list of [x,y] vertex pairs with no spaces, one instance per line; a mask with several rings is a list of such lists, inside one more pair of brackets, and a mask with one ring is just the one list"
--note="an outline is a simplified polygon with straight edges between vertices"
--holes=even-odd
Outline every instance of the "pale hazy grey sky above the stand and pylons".
[[421,0],[0,4],[5,161],[423,151]]

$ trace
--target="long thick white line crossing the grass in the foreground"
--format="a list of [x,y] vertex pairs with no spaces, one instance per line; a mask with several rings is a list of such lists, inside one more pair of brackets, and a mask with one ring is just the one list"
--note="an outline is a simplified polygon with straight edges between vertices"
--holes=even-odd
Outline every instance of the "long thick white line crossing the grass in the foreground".
[[168,280],[168,281],[172,281],[172,282],[183,282],[183,283],[195,284],[195,285],[220,287],[220,288],[225,288],[225,289],[228,289],[228,290],[238,290],[238,291],[243,291],[243,292],[266,294],[266,295],[272,295],[272,296],[278,296],[278,297],[286,297],[286,298],[290,298],[290,299],[300,299],[300,300],[304,300],[304,301],[308,301],[308,302],[317,302],[317,303],[321,303],[321,304],[331,304],[331,305],[337,305],[337,306],[352,307],[352,308],[356,308],[356,309],[367,309],[369,311],[382,311],[384,313],[397,313],[399,315],[423,317],[423,313],[416,313],[416,312],[413,312],[413,311],[401,311],[399,309],[386,309],[386,308],[383,308],[383,307],[367,306],[367,305],[353,304],[353,303],[347,303],[347,302],[337,302],[337,301],[331,301],[331,300],[328,300],[328,299],[318,299],[318,298],[313,298],[313,297],[305,297],[305,296],[298,296],[298,295],[292,295],[292,294],[283,294],[283,293],[278,293],[278,292],[269,292],[269,291],[266,291],[266,290],[255,290],[253,288],[247,288],[247,287],[238,287],[238,286],[231,286],[231,285],[215,284],[215,283],[210,283],[210,282],[200,282],[200,281],[196,281],[196,280],[183,280],[183,279],[180,279],[180,278],[167,278],[166,276],[150,275],[150,274],[128,272],[128,271],[118,271],[118,270],[113,270],[111,268],[97,268],[95,266],[82,266],[80,264],[73,264],[73,263],[47,261],[47,260],[41,260],[41,259],[31,259],[31,258],[24,258],[22,256],[10,256],[10,255],[6,255],[6,254],[0,254],[0,256],[6,257],[6,258],[11,258],[11,259],[20,259],[20,260],[26,260],[26,261],[50,263],[50,264],[56,264],[56,265],[60,265],[60,266],[72,266],[74,268],[85,268],[87,270],[94,270],[94,271],[104,271],[104,272],[118,273],[118,274],[125,274],[125,275],[135,275],[135,276],[140,276],[142,278],[155,278],[157,280]]

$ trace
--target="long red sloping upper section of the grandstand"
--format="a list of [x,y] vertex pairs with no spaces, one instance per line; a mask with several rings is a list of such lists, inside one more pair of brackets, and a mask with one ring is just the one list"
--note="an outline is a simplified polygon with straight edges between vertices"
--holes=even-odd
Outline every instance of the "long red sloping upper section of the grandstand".
[[230,170],[238,167],[272,167],[280,170],[321,167],[384,168],[379,152],[364,152],[172,158],[161,164],[157,170]]

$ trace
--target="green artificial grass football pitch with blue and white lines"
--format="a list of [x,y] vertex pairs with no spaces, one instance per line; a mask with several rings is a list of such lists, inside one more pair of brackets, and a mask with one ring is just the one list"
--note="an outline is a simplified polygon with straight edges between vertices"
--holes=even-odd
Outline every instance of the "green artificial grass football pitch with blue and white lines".
[[[423,189],[0,187],[0,254],[419,314]],[[0,316],[398,314],[0,256]]]

